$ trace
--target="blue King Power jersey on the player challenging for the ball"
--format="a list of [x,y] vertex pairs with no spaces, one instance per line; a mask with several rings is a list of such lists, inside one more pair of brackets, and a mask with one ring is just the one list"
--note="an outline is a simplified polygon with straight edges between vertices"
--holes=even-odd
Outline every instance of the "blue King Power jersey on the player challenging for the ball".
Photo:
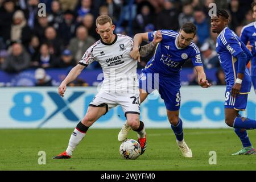
[[[148,32],[148,40],[154,39],[155,32]],[[144,72],[159,73],[163,77],[179,77],[182,65],[188,59],[194,66],[203,66],[199,48],[195,43],[186,48],[177,47],[178,33],[172,30],[161,30],[162,41],[156,47],[155,55],[148,61]]]

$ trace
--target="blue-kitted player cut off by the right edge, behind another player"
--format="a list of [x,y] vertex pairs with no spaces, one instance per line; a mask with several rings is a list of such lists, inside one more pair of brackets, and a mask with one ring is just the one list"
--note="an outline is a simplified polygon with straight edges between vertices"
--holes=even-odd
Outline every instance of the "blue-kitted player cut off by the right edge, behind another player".
[[[253,10],[253,18],[256,20],[256,2],[251,4],[251,9]],[[256,93],[256,21],[242,28],[240,39],[253,54],[250,73],[254,92]]]

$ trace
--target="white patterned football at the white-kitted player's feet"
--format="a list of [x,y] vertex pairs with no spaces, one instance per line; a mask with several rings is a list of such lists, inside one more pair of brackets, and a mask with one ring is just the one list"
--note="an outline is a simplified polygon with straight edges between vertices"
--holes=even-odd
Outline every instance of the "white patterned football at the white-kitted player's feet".
[[123,159],[137,159],[141,155],[141,145],[134,139],[126,139],[121,143],[119,152]]

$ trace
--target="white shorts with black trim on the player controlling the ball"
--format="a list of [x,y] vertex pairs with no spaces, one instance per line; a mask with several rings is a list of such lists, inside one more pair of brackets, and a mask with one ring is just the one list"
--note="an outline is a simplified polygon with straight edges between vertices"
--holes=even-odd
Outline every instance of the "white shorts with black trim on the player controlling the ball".
[[125,117],[127,113],[140,114],[141,100],[139,98],[139,90],[136,93],[126,94],[108,93],[101,91],[93,98],[89,106],[105,106],[107,113],[108,110],[118,105],[122,107],[123,113],[125,113]]

